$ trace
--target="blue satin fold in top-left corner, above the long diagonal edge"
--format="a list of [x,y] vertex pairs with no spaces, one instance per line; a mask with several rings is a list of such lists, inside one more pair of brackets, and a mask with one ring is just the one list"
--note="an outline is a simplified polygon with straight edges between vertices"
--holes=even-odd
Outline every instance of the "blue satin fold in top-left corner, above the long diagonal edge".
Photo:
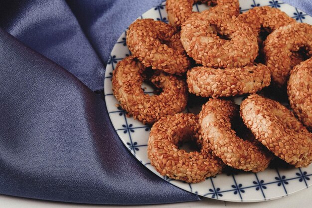
[[0,27],[90,89],[103,89],[104,65],[65,0],[1,0]]

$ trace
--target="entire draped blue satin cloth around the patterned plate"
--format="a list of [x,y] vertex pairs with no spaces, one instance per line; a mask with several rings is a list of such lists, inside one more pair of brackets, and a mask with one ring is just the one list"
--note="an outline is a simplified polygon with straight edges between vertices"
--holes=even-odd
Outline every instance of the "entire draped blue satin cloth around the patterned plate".
[[[312,14],[309,0],[287,1]],[[120,34],[160,2],[0,0],[0,194],[127,205],[199,200],[131,155],[94,92]]]

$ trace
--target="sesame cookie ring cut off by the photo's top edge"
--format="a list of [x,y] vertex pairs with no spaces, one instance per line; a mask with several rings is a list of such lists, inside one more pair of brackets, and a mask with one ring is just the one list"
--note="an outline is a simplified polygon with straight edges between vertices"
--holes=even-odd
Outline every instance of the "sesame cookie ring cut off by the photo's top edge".
[[209,8],[209,12],[221,15],[226,13],[230,16],[239,14],[238,0],[166,0],[166,11],[170,24],[180,27],[193,12],[193,4],[198,1],[207,3],[209,6],[216,4]]

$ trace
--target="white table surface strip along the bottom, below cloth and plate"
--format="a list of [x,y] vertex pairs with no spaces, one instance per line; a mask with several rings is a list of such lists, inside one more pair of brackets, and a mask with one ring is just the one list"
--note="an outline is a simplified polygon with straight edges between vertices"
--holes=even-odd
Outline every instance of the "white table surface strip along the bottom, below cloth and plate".
[[[137,208],[139,206],[104,206],[58,203],[0,195],[0,208]],[[140,206],[140,208],[312,208],[312,187],[294,195],[268,202],[231,203],[204,198],[202,201],[166,205]]]

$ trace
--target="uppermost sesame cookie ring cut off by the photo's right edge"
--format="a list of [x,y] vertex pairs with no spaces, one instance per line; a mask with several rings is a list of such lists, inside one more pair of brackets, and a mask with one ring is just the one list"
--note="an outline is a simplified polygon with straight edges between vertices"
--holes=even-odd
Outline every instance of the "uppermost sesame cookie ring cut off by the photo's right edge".
[[283,87],[291,71],[292,51],[302,47],[312,56],[312,25],[292,23],[274,30],[264,42],[266,65],[271,70],[272,80]]

